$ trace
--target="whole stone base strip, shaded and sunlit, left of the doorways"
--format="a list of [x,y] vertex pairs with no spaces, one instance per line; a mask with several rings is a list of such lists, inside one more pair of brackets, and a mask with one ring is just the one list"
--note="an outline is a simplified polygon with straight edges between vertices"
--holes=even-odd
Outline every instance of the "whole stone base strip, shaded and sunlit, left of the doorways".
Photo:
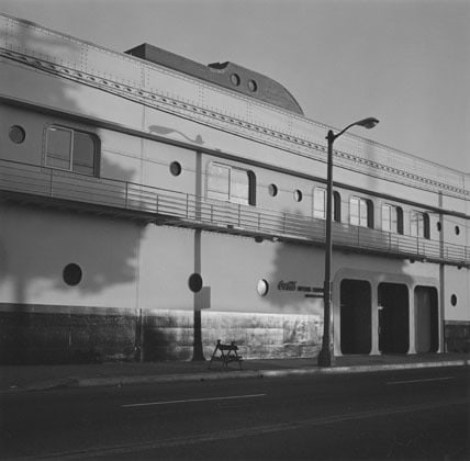
[[0,312],[0,363],[89,363],[112,360],[190,360],[194,337],[205,359],[217,339],[235,341],[245,359],[314,357],[318,316],[203,311],[194,336],[191,311],[18,306]]

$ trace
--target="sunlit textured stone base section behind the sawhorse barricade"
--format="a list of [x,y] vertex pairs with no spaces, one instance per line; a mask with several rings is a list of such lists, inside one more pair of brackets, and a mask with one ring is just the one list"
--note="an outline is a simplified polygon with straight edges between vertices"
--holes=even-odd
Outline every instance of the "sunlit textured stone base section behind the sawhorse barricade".
[[[246,359],[313,357],[321,348],[323,322],[314,315],[202,312],[202,348],[211,357],[215,342],[235,341]],[[155,311],[144,323],[145,360],[189,360],[193,313]]]

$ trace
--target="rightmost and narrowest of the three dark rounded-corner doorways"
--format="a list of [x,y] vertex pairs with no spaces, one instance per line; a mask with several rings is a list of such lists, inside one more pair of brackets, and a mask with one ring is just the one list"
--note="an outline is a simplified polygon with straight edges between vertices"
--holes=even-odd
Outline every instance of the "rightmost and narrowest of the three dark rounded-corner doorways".
[[414,306],[416,312],[416,352],[437,352],[439,349],[437,290],[433,286],[416,286]]

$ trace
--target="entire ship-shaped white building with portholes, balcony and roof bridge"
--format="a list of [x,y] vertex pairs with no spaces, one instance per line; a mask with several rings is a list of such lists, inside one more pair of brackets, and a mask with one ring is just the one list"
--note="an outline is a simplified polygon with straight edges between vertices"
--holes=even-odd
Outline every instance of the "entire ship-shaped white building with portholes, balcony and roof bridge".
[[[0,67],[2,363],[317,355],[329,127],[7,15]],[[335,355],[469,351],[470,177],[349,134],[334,164]]]

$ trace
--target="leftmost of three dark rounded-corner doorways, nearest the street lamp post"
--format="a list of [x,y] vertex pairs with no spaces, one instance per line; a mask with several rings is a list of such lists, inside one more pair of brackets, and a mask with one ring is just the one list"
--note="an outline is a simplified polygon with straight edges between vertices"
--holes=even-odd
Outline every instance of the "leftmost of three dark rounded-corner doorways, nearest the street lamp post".
[[371,288],[369,282],[342,281],[339,325],[343,353],[370,353]]

